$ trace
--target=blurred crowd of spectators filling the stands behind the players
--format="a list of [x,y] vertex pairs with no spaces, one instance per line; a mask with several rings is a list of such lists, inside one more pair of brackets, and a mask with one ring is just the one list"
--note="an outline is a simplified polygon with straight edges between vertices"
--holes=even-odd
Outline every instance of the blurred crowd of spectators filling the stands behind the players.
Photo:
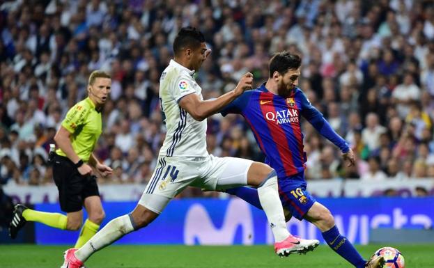
[[[307,178],[434,178],[434,3],[412,0],[15,0],[0,6],[0,181],[49,184],[47,150],[88,74],[112,74],[96,148],[114,175],[148,182],[165,136],[162,70],[182,26],[206,36],[205,99],[245,72],[268,79],[274,52],[300,54],[300,88],[355,150],[303,123]],[[208,119],[208,150],[262,161],[240,116]]]

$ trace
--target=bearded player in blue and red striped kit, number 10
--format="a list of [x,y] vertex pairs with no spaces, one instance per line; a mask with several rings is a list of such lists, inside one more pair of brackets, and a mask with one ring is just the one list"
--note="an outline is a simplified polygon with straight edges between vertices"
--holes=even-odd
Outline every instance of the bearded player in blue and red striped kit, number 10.
[[[355,158],[348,143],[334,132],[323,114],[297,88],[301,63],[302,59],[297,54],[275,54],[269,63],[268,81],[256,90],[243,93],[221,113],[223,116],[240,113],[246,118],[266,156],[265,163],[277,172],[281,203],[290,214],[300,221],[307,219],[318,227],[325,242],[355,267],[381,268],[384,259],[375,257],[366,262],[351,242],[341,235],[330,210],[306,190],[304,163],[307,157],[303,151],[301,116],[339,147],[348,166],[354,166]],[[238,187],[226,192],[261,208],[256,189]]]

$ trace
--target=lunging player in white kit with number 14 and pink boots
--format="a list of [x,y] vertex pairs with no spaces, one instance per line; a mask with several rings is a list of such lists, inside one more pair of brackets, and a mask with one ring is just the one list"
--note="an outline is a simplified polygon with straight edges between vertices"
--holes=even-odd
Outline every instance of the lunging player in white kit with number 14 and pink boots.
[[253,75],[245,74],[234,90],[214,100],[203,100],[194,80],[210,53],[203,34],[192,27],[180,30],[173,42],[174,60],[160,77],[160,104],[166,123],[166,139],[158,164],[134,210],[111,220],[80,249],[65,251],[63,268],[80,268],[95,252],[127,233],[144,228],[185,187],[219,190],[241,185],[258,187],[258,196],[274,235],[278,255],[305,252],[317,240],[288,239],[284,211],[277,191],[277,175],[270,166],[247,159],[215,157],[206,150],[206,118],[251,89]]

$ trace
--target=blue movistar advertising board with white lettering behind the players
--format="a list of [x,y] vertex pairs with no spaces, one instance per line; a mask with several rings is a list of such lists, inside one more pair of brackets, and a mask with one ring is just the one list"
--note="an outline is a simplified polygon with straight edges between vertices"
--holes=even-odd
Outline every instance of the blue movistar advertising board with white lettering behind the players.
[[[371,228],[432,228],[434,198],[320,198],[335,216],[343,235],[356,244],[369,242]],[[136,203],[104,203],[109,222],[132,211]],[[59,205],[40,204],[36,210],[60,212]],[[291,219],[293,235],[319,239],[307,221]],[[38,244],[75,244],[79,232],[36,224]],[[119,244],[272,244],[263,211],[238,198],[172,200],[148,227],[125,235]]]

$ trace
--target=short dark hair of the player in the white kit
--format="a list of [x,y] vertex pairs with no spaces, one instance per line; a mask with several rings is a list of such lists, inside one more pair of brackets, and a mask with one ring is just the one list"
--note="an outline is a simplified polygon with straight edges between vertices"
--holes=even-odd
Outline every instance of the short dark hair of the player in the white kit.
[[202,42],[205,42],[205,36],[201,31],[192,26],[183,27],[173,41],[173,53],[177,56],[186,47],[196,49]]

